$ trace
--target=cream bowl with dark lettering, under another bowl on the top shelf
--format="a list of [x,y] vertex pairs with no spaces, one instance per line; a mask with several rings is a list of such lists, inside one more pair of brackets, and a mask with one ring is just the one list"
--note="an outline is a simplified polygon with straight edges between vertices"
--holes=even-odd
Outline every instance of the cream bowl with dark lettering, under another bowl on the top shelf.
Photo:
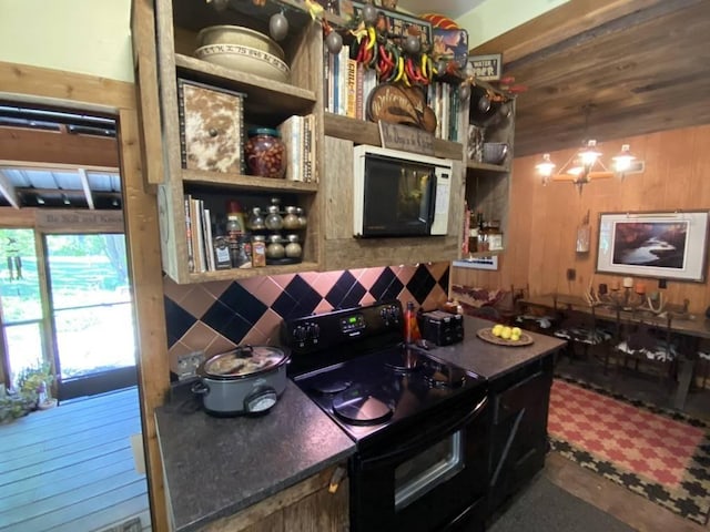
[[195,57],[240,72],[260,75],[268,80],[288,81],[288,65],[271,53],[241,44],[209,44],[195,50]]

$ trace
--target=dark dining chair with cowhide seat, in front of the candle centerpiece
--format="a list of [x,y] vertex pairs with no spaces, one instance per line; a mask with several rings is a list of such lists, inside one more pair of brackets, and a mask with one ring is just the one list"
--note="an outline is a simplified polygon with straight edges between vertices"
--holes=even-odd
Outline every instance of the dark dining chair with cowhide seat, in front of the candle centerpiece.
[[621,341],[615,346],[619,372],[627,369],[629,361],[632,361],[635,371],[655,371],[659,381],[666,378],[674,385],[678,349],[671,341],[672,314],[665,314],[665,317],[659,320],[655,319],[656,315],[647,309],[631,311],[629,323],[623,328]]

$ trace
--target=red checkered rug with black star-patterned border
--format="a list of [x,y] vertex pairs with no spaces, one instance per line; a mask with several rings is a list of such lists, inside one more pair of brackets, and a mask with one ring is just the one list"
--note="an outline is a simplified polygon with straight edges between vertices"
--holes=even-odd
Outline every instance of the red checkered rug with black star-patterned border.
[[548,420],[551,448],[704,524],[710,512],[710,427],[578,385],[555,379]]

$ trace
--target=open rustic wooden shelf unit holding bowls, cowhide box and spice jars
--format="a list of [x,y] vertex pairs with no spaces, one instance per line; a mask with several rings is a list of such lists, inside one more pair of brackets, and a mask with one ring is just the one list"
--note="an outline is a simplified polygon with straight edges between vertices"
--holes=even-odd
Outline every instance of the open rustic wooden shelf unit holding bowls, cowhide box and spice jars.
[[[281,9],[276,2],[264,7],[252,2],[231,2],[227,9],[217,11],[210,2],[193,0],[158,0],[155,2],[155,34],[158,53],[159,101],[161,104],[162,150],[164,153],[164,178],[159,186],[158,202],[161,225],[161,253],[163,269],[178,283],[196,283],[275,275],[320,269],[322,249],[320,238],[320,202],[317,177],[322,158],[317,147],[322,145],[323,113],[318,104],[322,71],[322,31],[318,24],[300,10],[290,11],[290,31],[281,43],[285,62],[290,65],[287,83],[261,78],[236,69],[226,69],[193,57],[196,35],[210,25],[242,25],[268,33],[268,19]],[[138,38],[145,39],[149,32]],[[143,47],[145,49],[146,47]],[[234,167],[227,172],[209,172],[184,167],[181,151],[181,121],[179,114],[178,79],[203,83],[216,90],[234,91],[245,95],[243,121],[245,129],[253,125],[276,127],[294,114],[313,114],[315,140],[311,147],[314,166],[313,183],[268,180],[246,175]],[[143,88],[142,88],[143,89]],[[154,136],[154,135],[153,135]],[[229,140],[225,140],[229,144]],[[236,141],[239,142],[239,141]],[[295,194],[297,205],[307,205],[308,226],[303,234],[303,262],[266,268],[225,269],[200,272],[189,262],[187,219],[184,198],[191,194],[203,200],[204,188],[209,194],[222,193],[225,198],[245,193],[280,195]],[[217,203],[222,208],[224,203]],[[217,212],[221,216],[224,212]],[[194,228],[194,225],[192,226]],[[215,227],[216,229],[216,227]]]

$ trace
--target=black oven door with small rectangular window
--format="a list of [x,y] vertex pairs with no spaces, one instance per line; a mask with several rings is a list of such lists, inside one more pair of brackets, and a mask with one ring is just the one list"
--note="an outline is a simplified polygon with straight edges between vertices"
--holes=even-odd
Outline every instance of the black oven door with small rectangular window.
[[[428,532],[483,528],[487,399],[447,407],[351,460],[351,530]],[[474,528],[471,528],[474,526]]]

